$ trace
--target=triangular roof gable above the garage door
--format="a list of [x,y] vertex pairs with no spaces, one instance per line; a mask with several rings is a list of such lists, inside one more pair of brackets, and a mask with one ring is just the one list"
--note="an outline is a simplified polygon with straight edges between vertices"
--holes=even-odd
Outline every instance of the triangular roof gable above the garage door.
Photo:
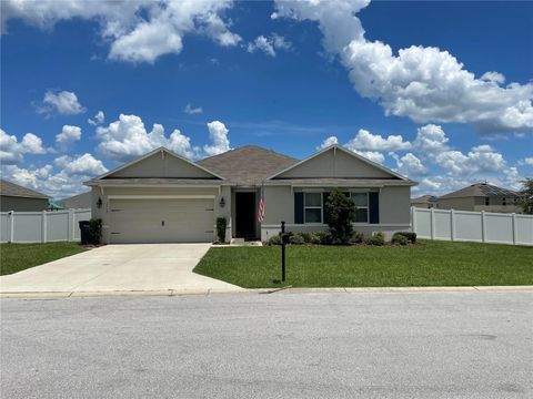
[[165,147],[160,147],[97,177],[97,180],[153,177],[223,178]]

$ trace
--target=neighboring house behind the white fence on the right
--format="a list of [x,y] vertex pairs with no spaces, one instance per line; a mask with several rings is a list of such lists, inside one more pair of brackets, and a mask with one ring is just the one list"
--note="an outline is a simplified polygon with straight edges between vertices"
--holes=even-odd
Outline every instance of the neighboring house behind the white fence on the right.
[[489,183],[472,184],[438,200],[441,209],[522,213],[517,202],[519,195],[516,192]]

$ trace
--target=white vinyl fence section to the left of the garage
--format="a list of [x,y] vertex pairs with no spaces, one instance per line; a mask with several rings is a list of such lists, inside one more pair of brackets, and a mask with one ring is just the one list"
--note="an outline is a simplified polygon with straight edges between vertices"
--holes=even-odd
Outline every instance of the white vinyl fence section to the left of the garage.
[[0,242],[51,243],[80,241],[78,222],[89,221],[91,209],[0,212]]

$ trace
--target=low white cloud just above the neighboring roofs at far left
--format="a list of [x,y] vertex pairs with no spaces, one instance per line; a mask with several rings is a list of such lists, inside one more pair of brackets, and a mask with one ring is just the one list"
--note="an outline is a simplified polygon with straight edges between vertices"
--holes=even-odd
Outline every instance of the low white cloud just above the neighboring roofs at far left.
[[42,167],[2,165],[7,178],[57,198],[87,191],[82,182],[105,173],[108,168],[91,154],[61,156]]

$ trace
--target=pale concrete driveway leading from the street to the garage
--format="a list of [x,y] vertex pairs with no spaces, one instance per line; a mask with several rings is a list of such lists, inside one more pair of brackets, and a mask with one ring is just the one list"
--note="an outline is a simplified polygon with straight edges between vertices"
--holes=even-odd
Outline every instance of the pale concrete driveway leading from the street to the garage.
[[210,244],[107,245],[0,277],[0,291],[97,293],[243,290],[192,273]]

